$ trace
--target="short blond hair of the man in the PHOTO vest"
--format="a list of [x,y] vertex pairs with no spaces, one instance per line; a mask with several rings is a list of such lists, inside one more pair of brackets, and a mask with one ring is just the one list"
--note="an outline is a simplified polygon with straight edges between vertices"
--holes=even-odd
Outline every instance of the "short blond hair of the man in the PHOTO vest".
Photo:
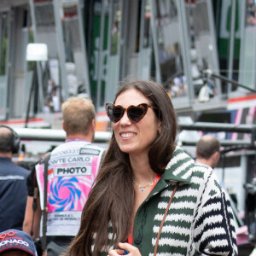
[[62,117],[67,135],[87,135],[96,113],[90,99],[72,97],[61,105]]

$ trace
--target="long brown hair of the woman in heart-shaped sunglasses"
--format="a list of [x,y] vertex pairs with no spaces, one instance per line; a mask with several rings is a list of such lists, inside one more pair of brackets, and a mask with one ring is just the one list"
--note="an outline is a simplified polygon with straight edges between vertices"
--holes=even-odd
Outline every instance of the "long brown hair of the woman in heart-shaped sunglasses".
[[[166,90],[153,81],[137,80],[119,87],[115,99],[125,90],[136,89],[148,98],[161,122],[161,132],[148,152],[149,165],[162,174],[171,160],[177,134],[177,118]],[[119,149],[114,134],[108,151],[84,206],[79,233],[71,243],[68,255],[99,255],[119,241],[126,241],[131,228],[135,191],[132,185],[129,154]],[[113,236],[108,237],[111,227]],[[109,244],[108,239],[111,239]]]

